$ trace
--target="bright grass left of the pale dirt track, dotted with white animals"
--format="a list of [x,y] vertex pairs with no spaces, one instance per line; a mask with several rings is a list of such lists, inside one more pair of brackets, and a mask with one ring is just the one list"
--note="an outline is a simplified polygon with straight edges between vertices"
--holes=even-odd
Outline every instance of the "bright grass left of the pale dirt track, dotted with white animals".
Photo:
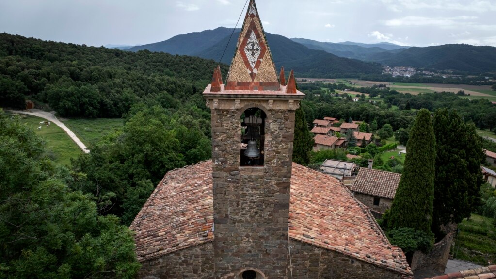
[[37,129],[40,126],[40,122],[45,121],[45,119],[30,115],[21,115],[21,117],[21,123],[27,124],[37,135],[45,140],[44,154],[55,163],[70,165],[70,158],[76,158],[83,153],[76,143],[57,125],[52,124],[48,127],[42,125],[41,129]]

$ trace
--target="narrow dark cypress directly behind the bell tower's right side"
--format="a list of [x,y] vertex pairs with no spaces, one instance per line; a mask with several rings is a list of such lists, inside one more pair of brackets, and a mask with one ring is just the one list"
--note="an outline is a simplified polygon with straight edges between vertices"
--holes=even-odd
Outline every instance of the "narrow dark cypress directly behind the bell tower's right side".
[[313,137],[310,135],[309,127],[305,120],[302,106],[295,112],[295,139],[293,141],[293,162],[308,165],[310,163],[310,151],[313,147]]

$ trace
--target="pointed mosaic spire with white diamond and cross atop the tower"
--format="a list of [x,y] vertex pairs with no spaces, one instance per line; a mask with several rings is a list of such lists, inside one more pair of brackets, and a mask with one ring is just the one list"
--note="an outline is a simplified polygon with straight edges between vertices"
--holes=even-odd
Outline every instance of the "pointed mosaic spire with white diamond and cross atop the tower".
[[255,1],[250,0],[226,90],[281,90]]

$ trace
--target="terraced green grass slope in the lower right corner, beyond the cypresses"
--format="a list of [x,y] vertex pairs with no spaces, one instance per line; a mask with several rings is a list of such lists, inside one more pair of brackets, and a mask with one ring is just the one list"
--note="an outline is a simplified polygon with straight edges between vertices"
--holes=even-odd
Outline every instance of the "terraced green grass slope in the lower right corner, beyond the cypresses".
[[451,247],[453,257],[488,266],[496,262],[496,234],[493,219],[472,214],[458,224],[460,232]]

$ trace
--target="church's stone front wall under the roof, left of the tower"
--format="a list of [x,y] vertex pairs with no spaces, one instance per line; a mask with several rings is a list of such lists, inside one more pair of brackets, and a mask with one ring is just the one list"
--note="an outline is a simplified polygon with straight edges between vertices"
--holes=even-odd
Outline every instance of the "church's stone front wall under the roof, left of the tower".
[[213,242],[207,242],[142,262],[137,278],[215,279],[213,257]]

